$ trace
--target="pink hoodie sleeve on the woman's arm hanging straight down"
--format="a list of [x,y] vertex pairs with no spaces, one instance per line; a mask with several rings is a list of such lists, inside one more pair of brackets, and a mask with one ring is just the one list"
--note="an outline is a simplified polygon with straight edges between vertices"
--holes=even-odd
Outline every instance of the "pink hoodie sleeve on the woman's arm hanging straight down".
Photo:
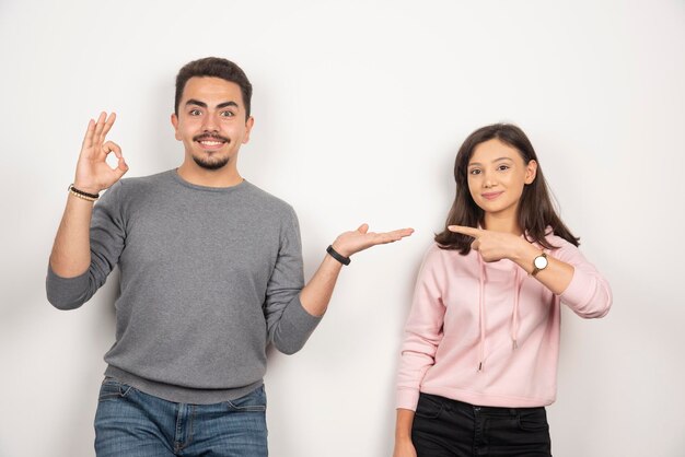
[[411,310],[405,325],[396,407],[416,410],[426,372],[434,364],[442,340],[445,307],[441,284],[445,284],[443,253],[433,245],[423,259],[414,291]]

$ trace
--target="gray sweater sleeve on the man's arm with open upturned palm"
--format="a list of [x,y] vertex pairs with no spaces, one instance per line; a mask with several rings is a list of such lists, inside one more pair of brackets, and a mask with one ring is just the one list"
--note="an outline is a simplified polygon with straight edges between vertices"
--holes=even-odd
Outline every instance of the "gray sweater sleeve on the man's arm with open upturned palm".
[[300,226],[294,210],[290,208],[264,307],[268,340],[285,354],[294,354],[302,349],[322,319],[309,314],[300,302],[300,292],[304,288],[302,263]]

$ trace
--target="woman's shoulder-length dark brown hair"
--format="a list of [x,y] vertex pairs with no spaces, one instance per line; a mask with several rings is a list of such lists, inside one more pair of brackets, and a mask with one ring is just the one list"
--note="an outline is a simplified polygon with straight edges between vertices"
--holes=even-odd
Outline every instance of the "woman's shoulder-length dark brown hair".
[[456,197],[452,209],[448,214],[445,228],[436,235],[436,242],[443,249],[457,249],[460,254],[466,255],[471,250],[473,238],[467,235],[453,233],[448,230],[448,225],[465,225],[477,227],[483,223],[484,211],[476,204],[468,190],[468,162],[474,154],[476,147],[486,141],[498,139],[504,144],[519,151],[523,163],[537,162],[537,173],[535,180],[523,188],[519,203],[519,225],[526,232],[529,242],[535,242],[547,249],[553,249],[546,239],[547,227],[552,227],[555,235],[560,236],[574,246],[578,239],[571,231],[561,222],[557,214],[547,181],[543,175],[543,168],[537,160],[537,154],[533,144],[523,130],[511,124],[494,124],[481,127],[466,138],[454,161],[454,180],[456,181]]

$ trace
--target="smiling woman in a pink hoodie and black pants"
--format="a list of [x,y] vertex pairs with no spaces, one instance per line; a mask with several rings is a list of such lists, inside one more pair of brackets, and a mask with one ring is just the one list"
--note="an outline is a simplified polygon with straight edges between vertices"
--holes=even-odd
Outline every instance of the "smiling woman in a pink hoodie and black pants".
[[520,128],[473,132],[454,178],[406,324],[394,457],[550,456],[559,303],[603,317],[608,283],[556,213]]

